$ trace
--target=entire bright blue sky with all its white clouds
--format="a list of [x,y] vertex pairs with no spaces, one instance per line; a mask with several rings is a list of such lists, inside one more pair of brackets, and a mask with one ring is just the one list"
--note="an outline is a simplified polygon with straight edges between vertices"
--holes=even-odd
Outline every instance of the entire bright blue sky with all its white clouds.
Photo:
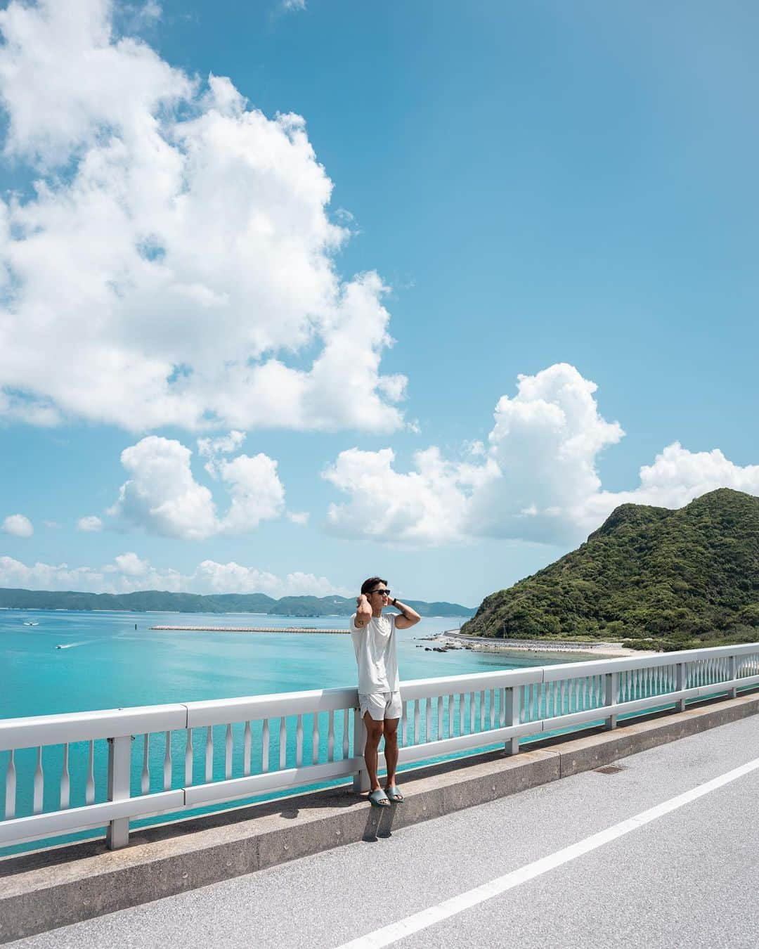
[[759,493],[757,20],[6,5],[0,586],[476,605]]

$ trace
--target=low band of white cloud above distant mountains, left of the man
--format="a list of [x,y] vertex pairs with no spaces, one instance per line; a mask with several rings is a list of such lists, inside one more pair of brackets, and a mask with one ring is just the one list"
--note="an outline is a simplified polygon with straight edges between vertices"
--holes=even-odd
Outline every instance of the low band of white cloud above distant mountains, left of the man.
[[348,596],[326,577],[293,572],[284,577],[231,561],[218,564],[204,560],[193,573],[155,568],[134,552],[122,553],[101,568],[70,567],[68,564],[26,565],[12,557],[0,557],[0,586],[25,589],[81,590],[85,593],[131,593],[160,589],[188,593],[267,593],[268,596]]

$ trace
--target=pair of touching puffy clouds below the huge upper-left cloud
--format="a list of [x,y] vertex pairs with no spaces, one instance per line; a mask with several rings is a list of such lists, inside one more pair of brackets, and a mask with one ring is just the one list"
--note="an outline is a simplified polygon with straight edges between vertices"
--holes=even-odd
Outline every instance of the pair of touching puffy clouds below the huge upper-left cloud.
[[239,455],[206,466],[230,496],[228,511],[219,516],[211,491],[194,479],[192,454],[179,441],[155,435],[124,449],[121,464],[130,477],[109,513],[166,537],[204,540],[254,530],[284,512],[285,488],[272,458]]

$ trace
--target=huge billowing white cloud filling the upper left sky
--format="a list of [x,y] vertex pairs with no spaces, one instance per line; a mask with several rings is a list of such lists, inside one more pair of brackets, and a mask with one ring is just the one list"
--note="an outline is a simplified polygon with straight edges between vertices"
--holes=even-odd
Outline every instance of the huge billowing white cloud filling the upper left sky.
[[187,76],[112,12],[0,11],[5,155],[36,178],[0,201],[0,415],[397,429],[385,288],[335,270],[349,230],[304,120]]

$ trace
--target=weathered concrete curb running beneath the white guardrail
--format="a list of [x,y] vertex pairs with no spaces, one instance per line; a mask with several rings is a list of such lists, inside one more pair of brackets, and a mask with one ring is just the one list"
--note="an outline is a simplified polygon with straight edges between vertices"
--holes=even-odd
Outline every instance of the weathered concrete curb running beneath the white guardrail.
[[0,942],[217,883],[398,829],[548,781],[590,771],[759,712],[756,692],[621,723],[615,731],[546,739],[513,757],[480,754],[405,772],[406,800],[369,808],[348,788],[281,798],[102,841],[0,860]]

